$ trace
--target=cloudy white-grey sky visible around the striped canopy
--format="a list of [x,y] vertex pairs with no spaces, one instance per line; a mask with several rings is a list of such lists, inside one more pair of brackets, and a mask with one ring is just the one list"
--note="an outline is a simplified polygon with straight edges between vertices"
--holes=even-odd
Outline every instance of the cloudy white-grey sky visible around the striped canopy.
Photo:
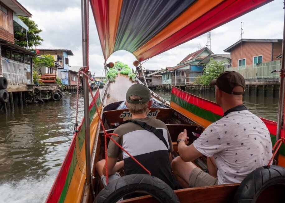
[[[39,29],[42,45],[36,48],[71,49],[74,56],[69,56],[70,65],[82,65],[82,32],[80,0],[18,0],[33,16]],[[104,58],[99,38],[90,9],[89,20],[89,64],[91,72],[100,76]],[[241,22],[242,38],[282,39],[284,9],[283,0],[275,0],[244,16],[211,31],[212,51],[216,54],[240,39]],[[189,53],[198,50],[198,45],[205,46],[207,34],[155,56],[144,63],[146,69],[156,70],[166,66],[175,66]],[[110,56],[110,61],[122,61],[132,65],[135,57],[127,51],[118,51]]]

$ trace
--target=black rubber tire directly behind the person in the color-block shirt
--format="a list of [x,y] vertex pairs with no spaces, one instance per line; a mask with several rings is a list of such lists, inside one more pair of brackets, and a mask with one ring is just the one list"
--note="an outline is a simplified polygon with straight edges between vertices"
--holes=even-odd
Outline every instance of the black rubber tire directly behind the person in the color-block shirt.
[[113,203],[134,193],[151,195],[161,203],[180,203],[171,187],[148,174],[126,175],[114,180],[99,192],[93,203]]

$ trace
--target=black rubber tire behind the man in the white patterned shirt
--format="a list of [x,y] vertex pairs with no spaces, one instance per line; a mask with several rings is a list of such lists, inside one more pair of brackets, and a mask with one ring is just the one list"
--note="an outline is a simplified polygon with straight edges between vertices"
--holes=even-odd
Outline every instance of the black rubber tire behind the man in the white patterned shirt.
[[269,168],[260,167],[252,171],[237,188],[233,202],[256,202],[258,196],[272,185],[285,185],[284,167],[271,165]]

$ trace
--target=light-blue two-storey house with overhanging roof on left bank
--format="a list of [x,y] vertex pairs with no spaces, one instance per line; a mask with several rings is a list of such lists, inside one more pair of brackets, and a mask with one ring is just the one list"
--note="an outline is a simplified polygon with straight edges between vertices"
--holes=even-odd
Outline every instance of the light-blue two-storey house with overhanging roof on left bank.
[[68,85],[68,56],[73,56],[69,49],[39,49],[40,55],[50,54],[54,56],[54,63],[58,67],[57,77],[61,79],[61,83]]

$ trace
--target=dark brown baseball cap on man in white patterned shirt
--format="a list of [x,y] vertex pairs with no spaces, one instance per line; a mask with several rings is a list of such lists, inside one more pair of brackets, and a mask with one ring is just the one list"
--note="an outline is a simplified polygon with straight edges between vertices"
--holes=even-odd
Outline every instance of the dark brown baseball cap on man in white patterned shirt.
[[[210,85],[217,85],[217,87],[228,94],[243,94],[245,92],[245,79],[236,71],[225,71],[221,73],[217,79],[213,79]],[[233,88],[241,86],[243,92],[233,92]]]

